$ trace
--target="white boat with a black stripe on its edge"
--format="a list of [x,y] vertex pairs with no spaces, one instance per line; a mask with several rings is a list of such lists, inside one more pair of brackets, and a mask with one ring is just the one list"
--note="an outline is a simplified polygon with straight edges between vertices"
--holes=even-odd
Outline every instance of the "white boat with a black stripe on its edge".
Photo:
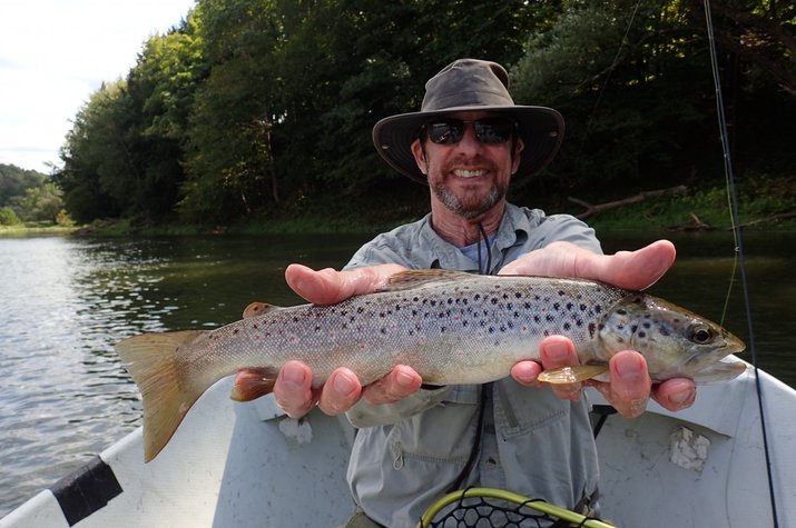
[[[206,391],[149,464],[138,428],[0,528],[344,522],[354,511],[347,420],[317,409],[296,420],[272,396],[233,402],[230,388],[226,378]],[[689,409],[650,402],[636,419],[613,414],[592,389],[586,397],[605,519],[648,528],[796,526],[796,390],[775,377],[747,366],[729,382],[700,387]]]

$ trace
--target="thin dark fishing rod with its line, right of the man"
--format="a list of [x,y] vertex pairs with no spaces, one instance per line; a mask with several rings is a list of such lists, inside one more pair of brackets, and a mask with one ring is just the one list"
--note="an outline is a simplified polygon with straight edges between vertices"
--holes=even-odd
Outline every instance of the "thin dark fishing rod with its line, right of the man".
[[[743,228],[740,226],[739,221],[739,215],[738,215],[738,196],[735,187],[735,176],[733,173],[733,162],[730,160],[730,149],[729,149],[729,139],[727,136],[727,117],[725,113],[725,108],[724,108],[724,99],[721,97],[721,82],[719,79],[719,68],[718,68],[718,58],[716,53],[716,39],[714,38],[714,28],[713,28],[713,17],[710,14],[710,0],[705,0],[705,21],[707,24],[707,31],[708,31],[708,42],[709,42],[709,48],[710,48],[710,66],[713,70],[713,76],[714,76],[714,88],[716,90],[716,108],[717,108],[717,113],[718,113],[718,119],[719,119],[719,136],[721,139],[721,149],[724,151],[724,170],[725,170],[725,179],[727,181],[727,191],[728,191],[728,200],[729,200],[729,208],[730,208],[730,216],[731,216],[731,222],[733,222],[733,235],[735,237],[735,262],[734,262],[734,268],[733,268],[733,277],[735,277],[736,268],[740,272],[740,283],[741,283],[741,290],[744,292],[744,307],[746,310],[746,322],[747,322],[747,328],[749,332],[749,352],[751,353],[751,365],[755,369],[755,387],[757,389],[757,406],[760,412],[760,429],[763,434],[763,448],[766,457],[766,472],[768,477],[768,495],[770,498],[772,502],[772,516],[774,517],[774,528],[777,528],[779,526],[779,522],[777,520],[777,501],[776,501],[776,496],[774,491],[774,476],[772,472],[772,458],[770,458],[770,452],[768,448],[768,435],[767,435],[767,428],[766,428],[766,418],[765,418],[765,411],[763,407],[763,386],[760,385],[760,373],[759,369],[757,367],[757,347],[755,346],[755,335],[753,331],[753,323],[751,323],[751,303],[749,301],[749,287],[746,280],[746,266],[744,262],[744,237],[743,237]],[[730,279],[730,286],[733,283],[733,279]],[[725,301],[725,311],[727,307],[727,302],[729,300],[729,291],[727,292],[727,301]],[[723,315],[724,319],[724,315]]]

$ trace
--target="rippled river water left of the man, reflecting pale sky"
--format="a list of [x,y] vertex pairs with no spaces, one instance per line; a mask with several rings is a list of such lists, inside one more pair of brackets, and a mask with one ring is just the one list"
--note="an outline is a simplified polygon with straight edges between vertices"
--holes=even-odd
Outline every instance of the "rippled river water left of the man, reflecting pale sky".
[[361,242],[0,238],[0,516],[140,424],[115,342],[217,327],[253,300],[295,303],[287,262],[340,267]]

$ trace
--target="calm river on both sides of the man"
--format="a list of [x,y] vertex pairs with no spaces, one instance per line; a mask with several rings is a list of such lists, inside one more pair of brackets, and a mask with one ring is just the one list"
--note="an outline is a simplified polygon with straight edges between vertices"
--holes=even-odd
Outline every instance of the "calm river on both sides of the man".
[[[612,252],[659,236],[611,235]],[[340,267],[366,236],[0,238],[0,517],[140,424],[114,343],[141,331],[214,328],[259,300],[293,305],[289,262]],[[674,238],[678,260],[650,290],[747,340],[728,233]],[[745,237],[759,366],[796,387],[796,233]],[[749,360],[749,355],[744,356]]]

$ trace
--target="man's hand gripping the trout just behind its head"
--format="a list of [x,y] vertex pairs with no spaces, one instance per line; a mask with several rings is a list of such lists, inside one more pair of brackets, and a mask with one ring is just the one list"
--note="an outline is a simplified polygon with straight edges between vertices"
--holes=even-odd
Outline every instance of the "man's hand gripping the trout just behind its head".
[[[599,280],[606,283],[640,290],[653,285],[675,261],[675,247],[659,240],[637,251],[596,255],[567,242],[554,242],[505,266],[501,275],[547,275]],[[540,385],[537,377],[542,369],[578,365],[572,341],[563,336],[550,336],[541,343],[541,365],[520,361],[511,375],[527,386]],[[627,350],[610,359],[611,382],[587,381],[626,417],[637,417],[647,408],[650,396],[669,410],[690,407],[696,398],[696,386],[689,379],[669,379],[652,386],[647,362],[640,353]],[[552,390],[564,399],[578,399],[579,383],[554,386]]]

